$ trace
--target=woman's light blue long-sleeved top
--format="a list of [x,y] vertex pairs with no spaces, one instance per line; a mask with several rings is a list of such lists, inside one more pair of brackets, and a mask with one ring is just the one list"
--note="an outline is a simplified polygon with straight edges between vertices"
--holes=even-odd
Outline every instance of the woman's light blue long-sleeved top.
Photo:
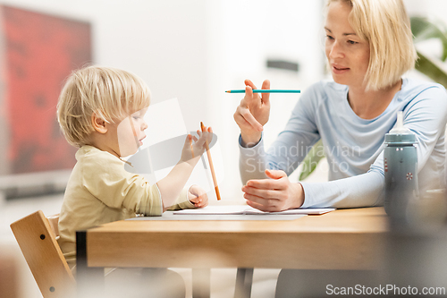
[[266,178],[265,169],[287,175],[299,166],[320,138],[329,165],[328,182],[300,182],[301,208],[357,208],[384,203],[384,135],[403,111],[404,126],[416,134],[419,192],[445,186],[444,134],[447,93],[431,82],[402,79],[382,115],[362,119],[348,102],[348,86],[319,81],[303,92],[291,118],[270,148],[261,140],[244,148],[240,139],[240,176]]

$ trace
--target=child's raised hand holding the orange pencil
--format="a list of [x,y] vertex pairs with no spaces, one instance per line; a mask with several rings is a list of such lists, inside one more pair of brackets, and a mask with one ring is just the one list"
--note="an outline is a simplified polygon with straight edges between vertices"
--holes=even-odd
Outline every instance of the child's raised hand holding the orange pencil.
[[205,127],[204,132],[197,131],[198,138],[188,134],[181,151],[181,161],[188,162],[192,166],[196,166],[198,159],[207,149],[207,144],[213,140],[213,130],[211,127]]

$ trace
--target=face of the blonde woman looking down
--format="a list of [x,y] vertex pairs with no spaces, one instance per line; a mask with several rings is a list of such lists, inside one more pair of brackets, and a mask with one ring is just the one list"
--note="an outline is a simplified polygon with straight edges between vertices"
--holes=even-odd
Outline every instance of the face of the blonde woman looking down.
[[369,64],[369,45],[350,27],[350,10],[350,6],[343,1],[329,4],[325,23],[325,54],[333,81],[362,87]]

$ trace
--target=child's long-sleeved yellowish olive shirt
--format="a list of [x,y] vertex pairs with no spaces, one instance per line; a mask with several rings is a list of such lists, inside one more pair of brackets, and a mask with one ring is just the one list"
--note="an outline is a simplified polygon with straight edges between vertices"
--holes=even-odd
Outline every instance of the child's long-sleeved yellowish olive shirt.
[[[156,184],[142,175],[124,169],[126,163],[109,152],[83,146],[76,152],[78,161],[63,196],[59,217],[58,243],[70,268],[76,260],[76,231],[116,220],[161,216],[163,203]],[[183,190],[169,209],[188,209],[194,205]]]

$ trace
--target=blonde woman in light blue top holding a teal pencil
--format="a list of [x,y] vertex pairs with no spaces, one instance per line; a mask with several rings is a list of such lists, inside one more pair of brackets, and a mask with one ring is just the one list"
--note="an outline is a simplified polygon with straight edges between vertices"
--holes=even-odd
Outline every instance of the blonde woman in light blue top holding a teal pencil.
[[[398,111],[416,134],[419,190],[442,188],[447,94],[439,84],[401,78],[417,57],[402,1],[329,0],[325,34],[333,81],[319,81],[302,94],[267,151],[262,130],[269,94],[260,98],[252,92],[255,85],[245,81],[234,119],[248,204],[266,211],[383,204],[384,135]],[[264,81],[262,89],[269,88]],[[330,181],[291,182],[287,176],[320,138]]]

